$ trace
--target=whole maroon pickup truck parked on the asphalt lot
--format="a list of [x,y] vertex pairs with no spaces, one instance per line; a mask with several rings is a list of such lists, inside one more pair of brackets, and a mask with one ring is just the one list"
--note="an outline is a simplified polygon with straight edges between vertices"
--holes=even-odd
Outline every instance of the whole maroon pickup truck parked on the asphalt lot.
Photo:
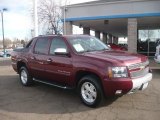
[[146,56],[113,51],[88,35],[38,36],[25,48],[14,50],[11,59],[22,85],[37,81],[76,88],[90,107],[103,96],[143,90],[152,79]]

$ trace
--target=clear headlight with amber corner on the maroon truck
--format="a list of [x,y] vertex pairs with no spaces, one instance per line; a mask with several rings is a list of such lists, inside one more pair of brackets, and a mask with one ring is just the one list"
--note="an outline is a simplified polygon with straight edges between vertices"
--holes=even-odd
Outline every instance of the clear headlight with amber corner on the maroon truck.
[[109,77],[126,78],[128,77],[127,67],[110,67]]

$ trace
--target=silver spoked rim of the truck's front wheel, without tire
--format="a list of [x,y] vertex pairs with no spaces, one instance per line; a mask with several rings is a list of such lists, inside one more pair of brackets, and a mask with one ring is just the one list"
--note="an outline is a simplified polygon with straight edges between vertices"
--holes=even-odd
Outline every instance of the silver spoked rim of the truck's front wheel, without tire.
[[84,82],[81,87],[81,95],[86,102],[95,102],[97,98],[97,91],[95,86],[90,82]]

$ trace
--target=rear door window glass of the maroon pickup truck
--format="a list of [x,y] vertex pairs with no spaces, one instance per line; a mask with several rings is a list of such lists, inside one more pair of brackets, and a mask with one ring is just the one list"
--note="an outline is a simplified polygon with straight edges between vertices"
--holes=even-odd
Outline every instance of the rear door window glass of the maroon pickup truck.
[[36,42],[34,53],[47,54],[48,53],[49,40],[47,38],[39,38]]

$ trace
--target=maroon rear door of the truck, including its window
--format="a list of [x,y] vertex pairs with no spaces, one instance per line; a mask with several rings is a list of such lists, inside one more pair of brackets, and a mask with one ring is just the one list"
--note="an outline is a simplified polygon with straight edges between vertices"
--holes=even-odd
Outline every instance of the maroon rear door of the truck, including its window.
[[34,78],[45,79],[45,61],[49,50],[47,37],[38,38],[32,53],[29,55],[29,66]]

